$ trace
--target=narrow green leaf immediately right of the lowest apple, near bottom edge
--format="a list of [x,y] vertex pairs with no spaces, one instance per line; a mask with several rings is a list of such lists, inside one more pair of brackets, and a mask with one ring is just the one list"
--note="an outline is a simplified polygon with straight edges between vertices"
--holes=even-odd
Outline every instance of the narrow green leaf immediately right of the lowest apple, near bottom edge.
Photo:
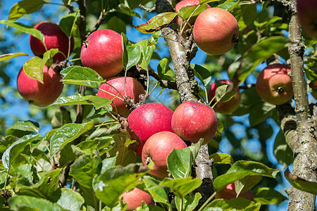
[[166,193],[166,190],[159,185],[160,181],[149,176],[144,176],[142,181],[144,181],[144,184],[147,187],[147,191],[149,191],[150,195],[153,197],[156,203],[163,203],[170,207],[168,194]]

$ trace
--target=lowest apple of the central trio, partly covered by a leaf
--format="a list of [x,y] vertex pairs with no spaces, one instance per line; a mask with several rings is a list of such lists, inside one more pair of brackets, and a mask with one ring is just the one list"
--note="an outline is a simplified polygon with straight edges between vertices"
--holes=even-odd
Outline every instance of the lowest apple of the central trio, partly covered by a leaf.
[[168,167],[166,159],[173,151],[187,147],[186,143],[173,132],[159,132],[147,139],[142,149],[142,162],[147,165],[149,160],[153,160],[154,167],[150,174],[156,177],[168,177]]

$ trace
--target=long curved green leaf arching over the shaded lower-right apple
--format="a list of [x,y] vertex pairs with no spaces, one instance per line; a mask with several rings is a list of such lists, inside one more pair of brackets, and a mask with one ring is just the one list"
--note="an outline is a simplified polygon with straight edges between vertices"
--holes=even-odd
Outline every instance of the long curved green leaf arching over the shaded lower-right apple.
[[275,177],[280,170],[274,170],[261,162],[239,160],[235,162],[227,173],[222,174],[213,181],[213,187],[218,192],[228,184],[249,176]]

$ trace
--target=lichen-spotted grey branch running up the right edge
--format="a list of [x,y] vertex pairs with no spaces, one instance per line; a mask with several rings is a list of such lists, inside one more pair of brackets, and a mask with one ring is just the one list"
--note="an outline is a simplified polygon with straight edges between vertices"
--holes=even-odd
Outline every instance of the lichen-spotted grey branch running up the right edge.
[[[291,8],[295,8],[296,0],[290,1]],[[294,151],[293,174],[308,181],[317,181],[317,142],[313,134],[313,120],[309,113],[309,101],[307,96],[306,80],[304,76],[304,44],[302,44],[302,34],[294,10],[290,10],[290,40],[289,47],[291,62],[291,77],[294,89],[294,99],[296,101],[295,113],[297,115],[297,139],[292,139]],[[315,196],[311,193],[290,188],[288,210],[314,210]]]

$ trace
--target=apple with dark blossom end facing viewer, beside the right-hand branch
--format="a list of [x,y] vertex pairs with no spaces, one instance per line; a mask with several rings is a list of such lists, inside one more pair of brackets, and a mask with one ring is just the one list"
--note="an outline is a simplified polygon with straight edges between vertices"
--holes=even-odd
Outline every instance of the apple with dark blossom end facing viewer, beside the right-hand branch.
[[266,102],[281,105],[290,101],[293,93],[292,80],[287,65],[273,64],[264,68],[256,79],[256,91]]

